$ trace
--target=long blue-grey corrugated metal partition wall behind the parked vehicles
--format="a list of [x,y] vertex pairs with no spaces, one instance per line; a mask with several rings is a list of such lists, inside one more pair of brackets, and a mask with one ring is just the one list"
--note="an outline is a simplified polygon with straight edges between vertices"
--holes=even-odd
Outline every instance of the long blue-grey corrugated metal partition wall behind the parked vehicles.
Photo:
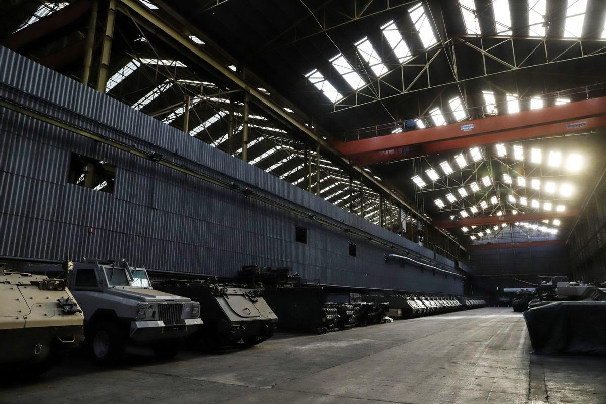
[[[125,257],[155,270],[233,276],[245,264],[293,267],[325,285],[462,293],[453,276],[384,254],[433,252],[128,105],[0,47],[0,97],[183,167],[330,217],[395,248],[348,236],[155,162],[0,108],[0,256]],[[68,184],[71,154],[116,165],[113,194]],[[295,227],[307,227],[307,244]],[[91,232],[90,228],[94,231]],[[356,256],[349,254],[356,243]],[[433,263],[454,270],[438,256]]]

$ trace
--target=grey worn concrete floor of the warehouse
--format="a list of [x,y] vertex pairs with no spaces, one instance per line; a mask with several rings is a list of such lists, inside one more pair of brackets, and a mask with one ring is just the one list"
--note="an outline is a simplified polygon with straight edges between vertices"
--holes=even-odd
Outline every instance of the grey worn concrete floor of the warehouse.
[[0,403],[606,403],[606,358],[530,351],[521,314],[482,308],[118,368],[76,354]]

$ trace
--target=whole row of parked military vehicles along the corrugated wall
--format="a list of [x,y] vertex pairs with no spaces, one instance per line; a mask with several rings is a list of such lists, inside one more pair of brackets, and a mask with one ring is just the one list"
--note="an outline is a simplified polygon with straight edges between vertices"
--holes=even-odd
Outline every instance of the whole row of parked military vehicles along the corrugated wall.
[[26,268],[27,273],[0,272],[0,363],[35,371],[78,344],[100,363],[121,359],[128,343],[169,358],[184,340],[207,350],[256,345],[273,336],[278,319],[281,328],[321,334],[385,322],[390,305],[404,310],[401,317],[473,305],[438,296],[326,303],[319,286],[247,287],[216,279],[165,279],[152,287],[145,268],[125,260]]

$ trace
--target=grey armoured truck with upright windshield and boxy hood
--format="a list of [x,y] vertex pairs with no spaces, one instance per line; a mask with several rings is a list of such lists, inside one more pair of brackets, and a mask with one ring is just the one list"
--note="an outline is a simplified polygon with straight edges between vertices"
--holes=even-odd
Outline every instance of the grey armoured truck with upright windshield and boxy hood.
[[[28,267],[53,273],[56,265]],[[127,342],[174,356],[181,339],[202,326],[200,303],[153,290],[145,268],[107,260],[75,262],[67,285],[84,311],[85,346],[98,362],[116,362]]]

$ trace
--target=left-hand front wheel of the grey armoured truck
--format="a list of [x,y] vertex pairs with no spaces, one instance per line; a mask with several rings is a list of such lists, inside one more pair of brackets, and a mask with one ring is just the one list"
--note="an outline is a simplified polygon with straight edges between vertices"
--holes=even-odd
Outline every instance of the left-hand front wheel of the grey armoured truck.
[[92,325],[88,347],[98,363],[116,363],[124,354],[124,336],[116,323],[101,321]]

